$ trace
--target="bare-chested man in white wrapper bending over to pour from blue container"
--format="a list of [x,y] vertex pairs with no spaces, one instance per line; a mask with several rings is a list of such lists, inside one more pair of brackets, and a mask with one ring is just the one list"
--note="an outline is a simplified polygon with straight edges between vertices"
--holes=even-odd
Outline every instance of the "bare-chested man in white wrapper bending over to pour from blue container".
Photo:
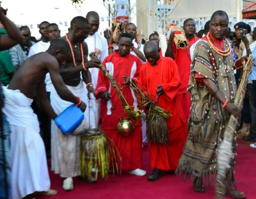
[[[42,108],[54,119],[57,115],[47,100],[44,78],[50,73],[52,84],[63,100],[79,104],[65,86],[59,74],[59,67],[69,56],[69,46],[64,40],[53,40],[47,52],[28,58],[12,78],[9,87],[3,87],[5,106],[3,112],[11,129],[12,198],[23,198],[28,194],[49,190],[50,180],[44,142],[39,134],[38,118],[30,107],[37,92]],[[79,104],[82,111],[86,104]]]

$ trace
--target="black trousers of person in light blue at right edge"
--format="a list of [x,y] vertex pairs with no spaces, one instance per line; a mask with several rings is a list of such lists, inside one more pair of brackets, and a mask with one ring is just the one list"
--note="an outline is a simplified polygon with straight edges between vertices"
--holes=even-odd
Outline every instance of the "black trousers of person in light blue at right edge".
[[256,138],[256,80],[253,84],[247,84],[250,104],[250,136]]

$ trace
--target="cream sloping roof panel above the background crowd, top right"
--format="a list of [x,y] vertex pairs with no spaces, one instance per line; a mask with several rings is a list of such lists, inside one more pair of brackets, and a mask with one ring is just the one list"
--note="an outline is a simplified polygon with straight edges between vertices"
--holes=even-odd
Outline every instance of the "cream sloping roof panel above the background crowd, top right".
[[169,19],[211,17],[217,10],[236,15],[236,0],[180,0]]

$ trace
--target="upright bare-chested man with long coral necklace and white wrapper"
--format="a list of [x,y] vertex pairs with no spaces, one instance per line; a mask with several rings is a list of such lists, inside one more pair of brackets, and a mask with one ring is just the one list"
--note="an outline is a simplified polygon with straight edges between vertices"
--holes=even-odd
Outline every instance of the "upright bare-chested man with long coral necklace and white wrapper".
[[[66,64],[60,70],[64,83],[70,91],[79,96],[83,101],[87,101],[87,92],[84,83],[87,84],[88,92],[94,92],[91,83],[90,71],[87,68],[98,67],[99,59],[87,61],[88,47],[84,39],[88,37],[90,24],[84,17],[75,17],[71,20],[69,32],[62,37],[70,44],[71,55]],[[82,79],[81,79],[82,77]],[[70,103],[59,98],[58,94],[52,89],[51,105],[56,113],[62,112]],[[59,173],[64,178],[62,188],[73,190],[73,177],[79,176],[80,171],[80,133],[89,128],[87,118],[89,110],[84,112],[85,120],[75,132],[66,136],[52,122],[52,170]],[[94,180],[94,179],[93,179]],[[90,180],[92,181],[92,180]]]

